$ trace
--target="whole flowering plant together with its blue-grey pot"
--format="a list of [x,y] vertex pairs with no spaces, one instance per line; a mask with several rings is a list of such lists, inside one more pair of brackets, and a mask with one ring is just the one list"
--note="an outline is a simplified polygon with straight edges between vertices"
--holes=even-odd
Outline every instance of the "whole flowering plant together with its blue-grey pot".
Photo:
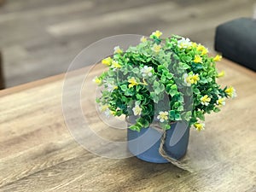
[[[102,86],[102,96],[96,99],[101,110],[126,117],[131,153],[155,163],[182,158],[189,127],[203,130],[205,113],[218,112],[226,98],[236,96],[232,86],[221,88],[216,81],[224,75],[215,67],[220,55],[208,55],[206,47],[189,38],[161,35],[153,32],[127,50],[115,47],[113,55],[102,60],[108,70],[94,79]],[[187,128],[170,145],[179,122],[186,122]]]

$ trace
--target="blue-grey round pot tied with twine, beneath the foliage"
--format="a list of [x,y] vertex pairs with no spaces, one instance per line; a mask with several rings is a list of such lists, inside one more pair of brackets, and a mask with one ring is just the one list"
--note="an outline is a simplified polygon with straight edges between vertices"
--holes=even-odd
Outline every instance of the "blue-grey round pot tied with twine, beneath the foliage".
[[[181,133],[177,123],[172,124],[172,128],[166,131],[166,141],[164,149],[166,154],[178,160],[187,152],[189,143],[189,128],[185,128]],[[128,149],[131,154],[137,156],[140,160],[153,163],[168,163],[159,153],[160,137],[162,133],[153,127],[143,128],[140,132],[127,129]],[[173,134],[177,134],[177,141]],[[172,138],[172,141],[171,141]],[[174,139],[173,139],[174,138]]]

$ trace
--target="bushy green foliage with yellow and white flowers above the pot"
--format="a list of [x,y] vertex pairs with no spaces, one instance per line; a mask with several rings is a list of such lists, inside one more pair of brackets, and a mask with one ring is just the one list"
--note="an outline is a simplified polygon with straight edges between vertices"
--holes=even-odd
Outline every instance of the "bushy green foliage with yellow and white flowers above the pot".
[[[95,79],[103,86],[96,102],[115,116],[135,115],[137,121],[129,127],[134,131],[154,119],[166,130],[179,120],[196,125],[205,120],[205,113],[218,112],[222,99],[231,96],[230,88],[216,83],[217,59],[207,55],[204,46],[177,35],[162,41],[160,35],[154,32],[137,46],[103,60],[108,71]],[[191,103],[184,98],[191,98]]]

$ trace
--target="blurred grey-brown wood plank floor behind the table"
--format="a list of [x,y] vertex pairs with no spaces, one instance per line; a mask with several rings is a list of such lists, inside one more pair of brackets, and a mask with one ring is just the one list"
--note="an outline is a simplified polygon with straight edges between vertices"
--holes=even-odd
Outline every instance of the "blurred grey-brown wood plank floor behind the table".
[[218,24],[255,15],[255,0],[6,0],[0,49],[8,87],[65,73],[89,44],[124,33],[176,33],[213,52]]

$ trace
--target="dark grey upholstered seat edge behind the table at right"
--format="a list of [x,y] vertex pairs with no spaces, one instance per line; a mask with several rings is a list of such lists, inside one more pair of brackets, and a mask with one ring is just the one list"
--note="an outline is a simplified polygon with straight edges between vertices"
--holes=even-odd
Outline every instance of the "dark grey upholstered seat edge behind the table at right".
[[224,57],[256,71],[256,20],[240,18],[219,25],[214,46]]

